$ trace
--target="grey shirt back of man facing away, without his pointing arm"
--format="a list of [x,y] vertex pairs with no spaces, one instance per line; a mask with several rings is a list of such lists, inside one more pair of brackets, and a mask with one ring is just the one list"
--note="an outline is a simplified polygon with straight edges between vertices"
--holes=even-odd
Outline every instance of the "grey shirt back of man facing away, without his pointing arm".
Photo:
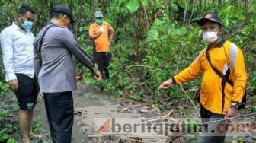
[[[49,24],[46,27],[49,27]],[[35,56],[39,56],[38,46],[46,27],[38,33],[35,45],[37,50]],[[72,33],[66,27],[50,27],[43,38],[41,47],[42,67],[40,68],[38,80],[42,92],[74,91],[75,65],[72,53],[63,43],[63,37],[73,38]],[[74,39],[75,40],[75,39]],[[73,43],[76,43],[73,41]],[[38,68],[38,67],[35,67]],[[37,71],[38,72],[38,71]]]

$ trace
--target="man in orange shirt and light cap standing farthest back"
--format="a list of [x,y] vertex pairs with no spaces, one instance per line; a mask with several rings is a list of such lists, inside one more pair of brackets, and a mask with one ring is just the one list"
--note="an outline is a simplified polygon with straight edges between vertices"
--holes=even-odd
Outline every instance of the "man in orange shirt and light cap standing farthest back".
[[98,70],[104,75],[104,78],[109,78],[108,67],[110,65],[111,53],[110,46],[114,36],[114,29],[110,24],[103,21],[101,11],[96,11],[94,14],[95,22],[89,27],[89,36],[94,42],[94,61],[98,64]]

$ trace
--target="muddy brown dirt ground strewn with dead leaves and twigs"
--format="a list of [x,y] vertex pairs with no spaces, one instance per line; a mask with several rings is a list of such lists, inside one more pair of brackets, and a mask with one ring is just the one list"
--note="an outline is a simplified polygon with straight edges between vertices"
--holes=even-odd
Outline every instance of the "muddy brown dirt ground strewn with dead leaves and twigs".
[[[189,101],[175,101],[171,103],[171,109],[160,111],[155,105],[150,105],[146,102],[135,102],[127,98],[117,99],[110,95],[104,95],[101,92],[89,87],[85,84],[78,84],[78,90],[73,94],[75,106],[75,119],[72,132],[72,143],[133,143],[133,142],[146,142],[146,143],[165,143],[165,142],[198,142],[185,141],[184,136],[170,135],[170,132],[163,132],[159,130],[158,135],[110,135],[104,132],[96,132],[95,119],[144,119],[146,122],[167,122],[175,123],[177,117],[183,118],[197,117],[197,113],[190,105]],[[146,100],[151,100],[150,97],[145,97]],[[173,104],[176,103],[176,104]],[[179,103],[179,104],[177,104]],[[186,110],[185,115],[181,115],[181,109]],[[197,106],[199,109],[199,106]],[[34,122],[43,122],[43,131],[33,139],[33,143],[51,143],[50,131],[46,119],[46,111],[43,99],[38,100],[37,106],[34,109]],[[103,126],[104,127],[104,126]],[[108,130],[109,131],[109,130]],[[168,135],[170,138],[166,138]],[[18,135],[17,135],[18,136]],[[133,138],[131,138],[133,136]],[[251,140],[252,135],[249,136],[248,142]],[[177,138],[176,138],[177,137]],[[245,138],[248,138],[245,137]],[[229,137],[229,142],[232,138]],[[200,138],[199,138],[200,140]]]

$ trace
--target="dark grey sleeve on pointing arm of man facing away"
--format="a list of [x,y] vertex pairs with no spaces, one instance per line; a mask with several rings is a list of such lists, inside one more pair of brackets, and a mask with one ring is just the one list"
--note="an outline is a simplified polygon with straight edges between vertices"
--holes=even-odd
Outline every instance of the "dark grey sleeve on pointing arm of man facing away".
[[95,67],[91,57],[82,50],[77,40],[75,40],[73,34],[67,28],[63,28],[61,40],[66,48],[69,49],[69,51],[72,52],[72,54],[75,56],[75,59],[78,59],[78,62],[82,63],[82,65],[85,65],[93,73],[97,71],[97,68]]

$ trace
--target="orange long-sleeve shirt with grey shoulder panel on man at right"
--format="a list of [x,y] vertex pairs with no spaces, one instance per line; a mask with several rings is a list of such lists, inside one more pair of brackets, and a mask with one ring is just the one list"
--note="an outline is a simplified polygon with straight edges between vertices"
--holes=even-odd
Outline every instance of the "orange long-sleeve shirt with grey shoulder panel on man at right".
[[[225,51],[224,51],[225,49]],[[242,50],[234,43],[223,40],[216,47],[209,49],[210,59],[213,66],[226,74],[227,69],[232,68],[229,78],[234,85],[226,84],[224,109],[222,112],[222,78],[211,68],[210,63],[206,59],[206,49],[203,49],[197,59],[192,64],[174,76],[176,84],[190,81],[197,76],[203,74],[200,90],[200,103],[212,113],[225,114],[231,102],[242,102],[245,94],[245,84],[247,74],[245,70],[244,56]]]

